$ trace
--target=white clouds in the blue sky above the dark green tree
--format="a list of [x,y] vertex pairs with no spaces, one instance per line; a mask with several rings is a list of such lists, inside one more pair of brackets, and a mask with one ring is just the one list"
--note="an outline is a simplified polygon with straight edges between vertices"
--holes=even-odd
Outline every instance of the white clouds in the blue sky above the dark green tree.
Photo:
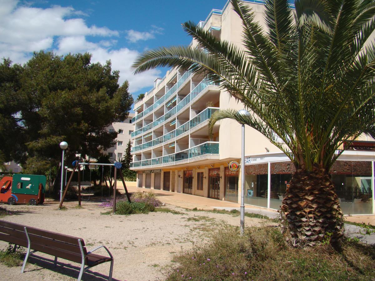
[[[25,63],[33,51],[53,49],[58,55],[90,52],[92,62],[104,64],[111,60],[112,69],[120,70],[119,83],[129,81],[131,93],[152,87],[160,70],[133,75],[130,66],[139,54],[128,48],[112,49],[117,44],[119,32],[107,27],[88,26],[83,12],[73,7],[52,6],[47,9],[22,6],[15,0],[1,0],[0,5],[0,58],[9,57],[15,63]],[[162,28],[153,26],[145,33],[130,30],[132,42],[154,38]],[[129,35],[130,34],[130,35]],[[90,42],[87,36],[107,37],[98,43]],[[112,37],[112,38],[111,38]],[[146,39],[147,38],[147,39]]]

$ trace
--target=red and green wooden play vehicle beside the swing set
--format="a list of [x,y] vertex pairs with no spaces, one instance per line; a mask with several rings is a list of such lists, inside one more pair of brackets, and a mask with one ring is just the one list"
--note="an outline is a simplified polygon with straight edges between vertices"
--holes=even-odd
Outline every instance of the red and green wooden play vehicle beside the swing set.
[[41,175],[15,174],[0,180],[0,202],[9,205],[38,205],[44,202],[46,177]]

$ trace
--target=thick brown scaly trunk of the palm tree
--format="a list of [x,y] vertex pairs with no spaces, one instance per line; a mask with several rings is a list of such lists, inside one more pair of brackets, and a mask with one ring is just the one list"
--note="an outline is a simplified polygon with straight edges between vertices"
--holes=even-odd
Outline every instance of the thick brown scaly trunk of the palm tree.
[[314,166],[313,172],[299,169],[293,174],[280,212],[283,231],[289,231],[294,247],[313,246],[324,239],[335,243],[343,235],[344,216],[335,186],[323,167]]

